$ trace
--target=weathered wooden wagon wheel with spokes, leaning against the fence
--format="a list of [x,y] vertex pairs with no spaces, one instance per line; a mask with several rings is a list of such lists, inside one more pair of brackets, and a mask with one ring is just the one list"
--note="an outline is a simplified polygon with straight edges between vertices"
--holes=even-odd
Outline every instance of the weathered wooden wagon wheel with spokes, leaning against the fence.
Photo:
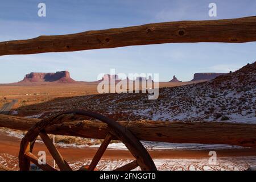
[[[96,155],[92,159],[89,167],[86,167],[88,170],[96,169],[98,162],[100,161],[102,155],[104,154],[108,144],[113,138],[117,138],[121,140],[122,143],[129,149],[131,154],[134,156],[136,160],[133,162],[126,164],[125,166],[119,167],[115,170],[120,171],[128,171],[138,166],[144,170],[151,170],[155,171],[156,167],[151,159],[151,156],[148,154],[147,150],[144,146],[139,142],[139,140],[125,127],[119,125],[113,119],[104,117],[103,115],[92,113],[90,111],[84,110],[75,110],[75,111],[65,111],[64,113],[53,115],[52,117],[43,119],[42,121],[36,123],[22,138],[22,142],[20,143],[20,151],[19,151],[19,168],[21,171],[28,171],[30,170],[30,162],[36,164],[39,168],[46,170],[46,171],[54,171],[56,170],[49,164],[39,164],[38,158],[32,154],[32,149],[34,147],[34,143],[38,135],[42,138],[44,144],[48,148],[48,151],[51,153],[53,159],[56,161],[57,166],[60,170],[69,171],[72,170],[69,167],[68,163],[63,159],[60,152],[57,148],[53,145],[51,139],[48,137],[46,133],[46,128],[55,124],[67,122],[67,119],[63,119],[65,114],[79,114],[84,115],[87,117],[92,117],[98,119],[104,123],[106,123],[109,127],[109,133],[106,134],[104,141],[102,142],[100,148],[96,152]],[[64,120],[64,121],[61,121]]]

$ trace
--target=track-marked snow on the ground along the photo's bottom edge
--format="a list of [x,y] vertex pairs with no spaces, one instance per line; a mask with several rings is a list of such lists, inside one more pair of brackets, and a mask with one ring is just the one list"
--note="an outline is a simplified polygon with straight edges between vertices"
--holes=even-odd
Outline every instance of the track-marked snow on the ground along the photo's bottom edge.
[[[160,171],[243,171],[251,166],[256,166],[256,158],[250,157],[222,157],[217,158],[216,164],[209,164],[209,158],[201,159],[153,159],[156,168]],[[113,170],[132,160],[129,159],[101,159],[98,163],[99,170]],[[90,164],[90,160],[68,161],[73,170]],[[0,154],[0,165],[18,170],[18,158],[9,154]],[[135,170],[140,170],[136,168]]]

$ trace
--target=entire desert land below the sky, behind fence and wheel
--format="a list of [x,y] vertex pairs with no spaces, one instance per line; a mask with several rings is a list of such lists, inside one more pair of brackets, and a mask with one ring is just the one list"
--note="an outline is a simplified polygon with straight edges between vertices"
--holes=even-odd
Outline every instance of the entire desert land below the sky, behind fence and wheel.
[[[15,101],[7,114],[39,119],[60,111],[81,109],[104,114],[115,121],[256,122],[256,63],[247,64],[233,73],[216,73],[216,76],[201,73],[200,77],[196,73],[189,82],[181,82],[174,76],[170,82],[159,82],[158,100],[148,100],[147,94],[143,93],[98,94],[98,81],[77,82],[67,71],[61,74],[30,73],[20,82],[2,84],[2,107]],[[48,75],[53,75],[54,79],[44,79]],[[0,132],[0,164],[18,169],[19,143],[26,132],[3,127]],[[78,169],[82,164],[89,164],[102,140],[56,135],[55,142],[72,169]],[[224,144],[142,143],[159,170],[245,170],[256,166],[254,148]],[[39,139],[35,151],[42,148],[45,146]],[[218,154],[218,163],[214,165],[208,164],[208,153],[212,150]],[[50,159],[49,163],[53,161],[52,157]],[[113,140],[97,168],[114,169],[132,159],[125,145]]]

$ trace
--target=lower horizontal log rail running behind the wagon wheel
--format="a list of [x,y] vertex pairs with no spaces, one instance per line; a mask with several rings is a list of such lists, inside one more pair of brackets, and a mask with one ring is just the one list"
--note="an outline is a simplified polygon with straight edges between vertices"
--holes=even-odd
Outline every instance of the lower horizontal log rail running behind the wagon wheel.
[[[0,115],[0,127],[9,129],[29,130],[38,121],[40,119]],[[119,121],[118,123],[129,129],[139,140],[256,147],[256,124],[157,121]],[[102,122],[73,121],[53,125],[46,131],[48,134],[104,139],[109,129]]]

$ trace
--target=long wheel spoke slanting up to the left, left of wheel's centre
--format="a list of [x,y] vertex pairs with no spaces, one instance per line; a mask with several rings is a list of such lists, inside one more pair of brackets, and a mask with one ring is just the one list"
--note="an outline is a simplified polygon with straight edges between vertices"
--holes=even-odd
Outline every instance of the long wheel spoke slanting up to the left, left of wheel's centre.
[[53,159],[59,166],[60,170],[63,171],[71,171],[71,167],[69,167],[68,163],[63,159],[60,152],[57,150],[57,148],[52,143],[51,139],[47,135],[45,131],[40,131],[39,133],[40,137],[42,138],[44,144],[46,144],[46,147],[48,148],[48,151],[51,153]]

